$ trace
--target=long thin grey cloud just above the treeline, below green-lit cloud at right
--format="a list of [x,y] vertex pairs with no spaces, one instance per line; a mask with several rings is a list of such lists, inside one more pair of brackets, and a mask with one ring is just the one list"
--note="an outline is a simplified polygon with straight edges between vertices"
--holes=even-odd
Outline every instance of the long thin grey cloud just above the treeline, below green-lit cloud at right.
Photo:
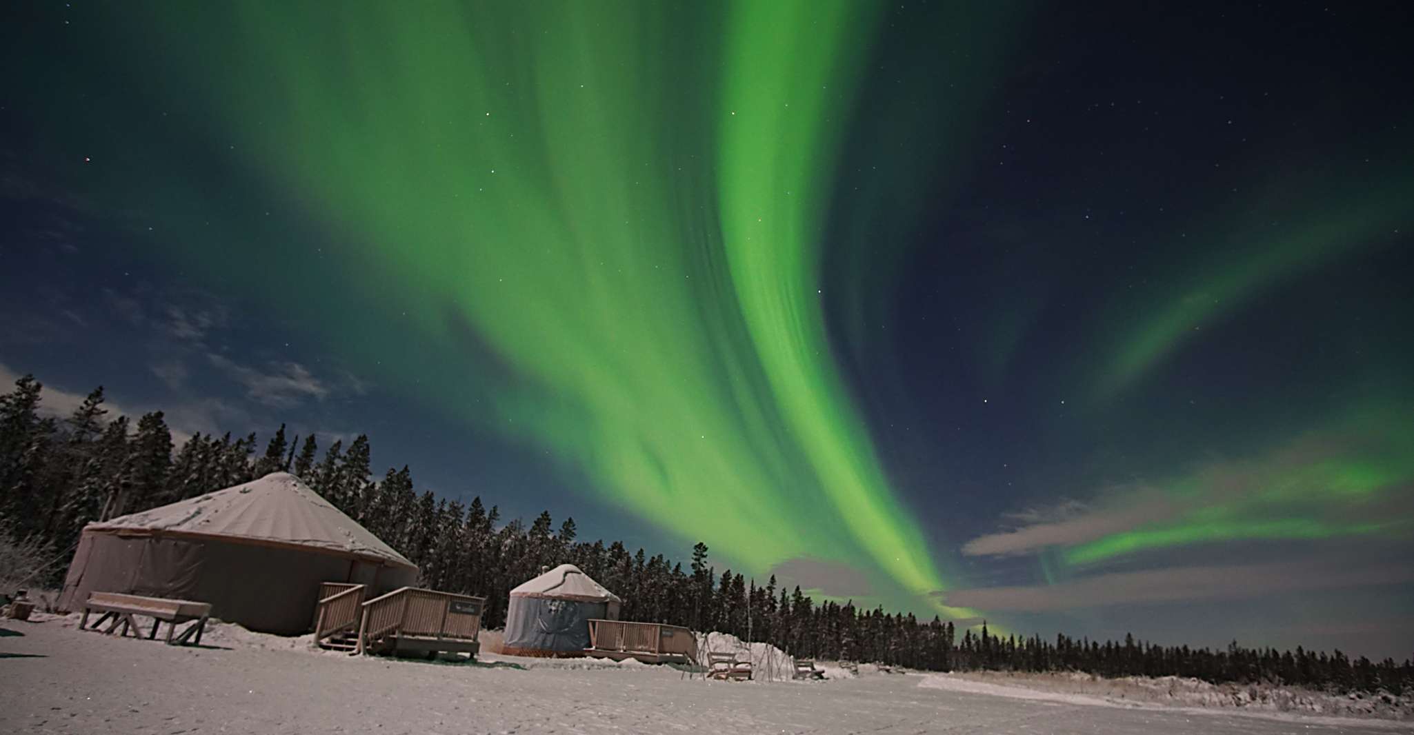
[[1169,567],[1099,574],[1055,585],[949,589],[947,605],[1010,612],[1053,612],[1110,605],[1244,599],[1314,589],[1401,585],[1414,581],[1408,564],[1348,561]]

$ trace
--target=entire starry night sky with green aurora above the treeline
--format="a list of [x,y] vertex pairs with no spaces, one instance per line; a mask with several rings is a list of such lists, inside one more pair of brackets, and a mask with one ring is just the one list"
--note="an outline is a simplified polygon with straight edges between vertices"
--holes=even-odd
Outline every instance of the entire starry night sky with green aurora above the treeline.
[[1404,3],[6,3],[0,379],[1007,632],[1414,647]]

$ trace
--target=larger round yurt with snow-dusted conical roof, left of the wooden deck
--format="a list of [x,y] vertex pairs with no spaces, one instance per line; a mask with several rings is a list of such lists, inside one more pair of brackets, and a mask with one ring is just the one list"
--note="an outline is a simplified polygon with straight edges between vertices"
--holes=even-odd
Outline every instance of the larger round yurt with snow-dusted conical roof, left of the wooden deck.
[[378,595],[417,582],[417,567],[287,472],[173,505],[89,523],[59,606],[89,592],[209,602],[252,630],[310,629],[320,582]]

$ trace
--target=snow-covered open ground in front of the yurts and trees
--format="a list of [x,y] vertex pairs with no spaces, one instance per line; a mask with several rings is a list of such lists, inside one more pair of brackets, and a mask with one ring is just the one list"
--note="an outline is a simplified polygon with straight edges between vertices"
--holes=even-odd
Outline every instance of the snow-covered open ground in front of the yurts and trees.
[[[44,618],[44,616],[41,616]],[[307,639],[214,626],[204,647],[0,623],[0,732],[1391,732],[1407,722],[1094,707],[964,691],[962,677],[881,674],[727,683],[663,666],[499,654],[427,663],[312,652]],[[940,684],[942,683],[942,684]],[[995,686],[995,684],[994,684]],[[1005,695],[994,695],[1005,694]],[[1053,694],[1053,693],[1052,693]],[[1278,715],[1273,715],[1278,717]]]

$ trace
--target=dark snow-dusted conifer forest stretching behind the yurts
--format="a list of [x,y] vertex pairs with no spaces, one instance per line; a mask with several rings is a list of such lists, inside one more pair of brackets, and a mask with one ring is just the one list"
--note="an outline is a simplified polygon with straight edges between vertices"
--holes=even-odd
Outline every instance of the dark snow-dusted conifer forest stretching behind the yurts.
[[[1414,660],[1370,662],[1335,650],[1312,653],[1226,650],[1099,642],[1058,635],[1017,637],[964,629],[936,616],[864,609],[851,602],[816,602],[799,587],[771,577],[764,585],[731,570],[717,572],[708,548],[693,547],[689,567],[663,554],[631,553],[621,541],[581,541],[574,519],[556,529],[549,512],[530,524],[502,522],[481,498],[464,505],[419,493],[409,468],[376,478],[366,435],[334,441],[320,457],[317,438],[288,437],[281,425],[257,454],[255,434],[197,434],[174,448],[161,411],[107,417],[103,389],[95,389],[66,418],[40,411],[41,384],[33,376],[0,396],[0,536],[42,544],[59,564],[38,582],[58,585],[62,561],[83,526],[195,498],[288,471],[362,523],[421,570],[421,584],[486,598],[484,623],[505,625],[509,592],[557,564],[574,564],[624,598],[626,621],[720,630],[766,642],[800,657],[880,662],[922,670],[1085,671],[1106,677],[1182,676],[1212,683],[1282,683],[1332,691],[1394,694],[1414,687]],[[175,451],[174,451],[175,449]],[[11,592],[11,591],[0,591]]]

